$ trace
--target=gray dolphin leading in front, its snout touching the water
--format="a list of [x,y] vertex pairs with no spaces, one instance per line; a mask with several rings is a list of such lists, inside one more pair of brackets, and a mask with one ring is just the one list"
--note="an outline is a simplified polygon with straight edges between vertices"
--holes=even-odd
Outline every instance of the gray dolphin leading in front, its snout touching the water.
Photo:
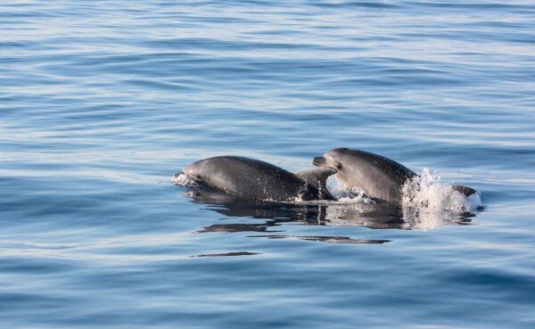
[[325,186],[334,173],[322,167],[293,174],[261,160],[218,156],[193,162],[175,177],[183,174],[198,185],[245,198],[294,202],[336,200]]

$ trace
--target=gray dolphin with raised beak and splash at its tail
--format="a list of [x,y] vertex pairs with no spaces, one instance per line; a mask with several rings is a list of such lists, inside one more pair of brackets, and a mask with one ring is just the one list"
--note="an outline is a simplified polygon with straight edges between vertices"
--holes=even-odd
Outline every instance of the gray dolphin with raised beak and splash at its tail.
[[[312,161],[317,167],[336,169],[336,178],[344,187],[360,187],[367,196],[384,202],[400,203],[401,188],[416,173],[402,164],[372,152],[336,148]],[[475,193],[470,187],[451,186],[469,196]]]

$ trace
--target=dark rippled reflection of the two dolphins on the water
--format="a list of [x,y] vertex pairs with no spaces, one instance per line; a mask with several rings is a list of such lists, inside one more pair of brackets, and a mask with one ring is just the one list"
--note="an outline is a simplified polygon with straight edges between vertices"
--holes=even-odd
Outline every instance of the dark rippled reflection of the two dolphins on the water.
[[[328,243],[386,243],[388,240],[350,239],[341,236],[284,235],[277,226],[299,223],[314,226],[366,226],[374,229],[430,229],[444,225],[467,225],[470,213],[425,213],[417,209],[403,209],[398,205],[382,202],[319,202],[282,203],[259,202],[221,193],[193,190],[185,192],[191,202],[208,205],[229,218],[256,218],[258,223],[224,223],[203,227],[198,233],[251,232],[266,238],[294,238]],[[268,234],[265,234],[268,233]]]

